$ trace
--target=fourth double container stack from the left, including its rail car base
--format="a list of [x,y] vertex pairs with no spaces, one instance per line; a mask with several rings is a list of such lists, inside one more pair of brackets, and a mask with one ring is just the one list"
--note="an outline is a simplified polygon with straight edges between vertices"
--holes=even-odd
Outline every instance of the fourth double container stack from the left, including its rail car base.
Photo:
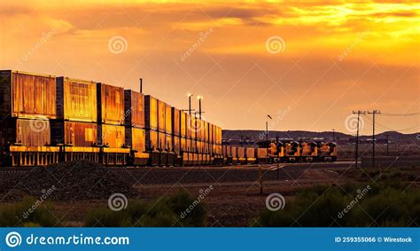
[[126,145],[131,149],[133,165],[146,165],[149,153],[146,153],[144,95],[133,90],[124,90],[124,118]]

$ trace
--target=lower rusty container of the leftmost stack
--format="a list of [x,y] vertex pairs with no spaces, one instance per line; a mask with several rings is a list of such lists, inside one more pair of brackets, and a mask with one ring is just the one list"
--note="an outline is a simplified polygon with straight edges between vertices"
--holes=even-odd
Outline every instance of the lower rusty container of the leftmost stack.
[[1,145],[51,145],[49,120],[8,118],[0,122]]

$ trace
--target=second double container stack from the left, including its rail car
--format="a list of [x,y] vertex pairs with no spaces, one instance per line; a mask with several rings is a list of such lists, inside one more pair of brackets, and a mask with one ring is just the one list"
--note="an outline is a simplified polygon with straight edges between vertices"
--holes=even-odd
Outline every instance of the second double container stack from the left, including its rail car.
[[57,78],[57,119],[51,121],[53,145],[59,145],[61,161],[98,161],[97,83]]

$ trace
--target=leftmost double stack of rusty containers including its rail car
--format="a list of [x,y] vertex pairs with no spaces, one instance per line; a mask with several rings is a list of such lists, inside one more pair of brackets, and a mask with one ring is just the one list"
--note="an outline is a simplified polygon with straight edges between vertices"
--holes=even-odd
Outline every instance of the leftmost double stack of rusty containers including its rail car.
[[0,146],[12,166],[58,161],[51,147],[51,119],[57,118],[56,77],[0,71]]

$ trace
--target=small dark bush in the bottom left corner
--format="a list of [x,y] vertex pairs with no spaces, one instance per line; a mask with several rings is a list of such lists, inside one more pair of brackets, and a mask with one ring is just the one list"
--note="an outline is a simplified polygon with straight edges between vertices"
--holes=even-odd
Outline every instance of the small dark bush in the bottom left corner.
[[[35,207],[35,209],[30,209]],[[32,210],[32,212],[30,212]],[[37,202],[35,198],[24,197],[19,203],[4,204],[0,206],[0,226],[59,226],[54,216],[51,203]]]

